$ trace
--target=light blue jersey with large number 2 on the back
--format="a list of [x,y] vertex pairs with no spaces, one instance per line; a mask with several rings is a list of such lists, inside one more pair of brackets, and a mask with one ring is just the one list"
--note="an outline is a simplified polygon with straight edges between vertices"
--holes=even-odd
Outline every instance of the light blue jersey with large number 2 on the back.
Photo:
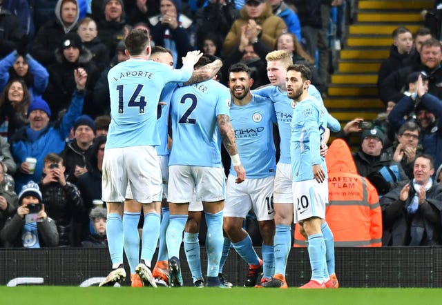
[[230,99],[229,89],[213,79],[175,89],[169,166],[222,166],[217,115],[229,115]]

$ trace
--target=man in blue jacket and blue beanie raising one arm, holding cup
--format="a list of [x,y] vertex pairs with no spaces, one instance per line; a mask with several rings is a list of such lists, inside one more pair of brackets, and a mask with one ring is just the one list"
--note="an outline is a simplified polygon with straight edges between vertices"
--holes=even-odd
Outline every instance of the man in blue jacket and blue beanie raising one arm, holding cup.
[[[18,193],[21,186],[30,180],[39,181],[43,173],[44,157],[48,153],[60,153],[64,149],[65,139],[68,137],[77,117],[81,115],[84,103],[87,73],[83,68],[74,72],[77,88],[73,93],[68,111],[57,124],[49,124],[51,115],[48,103],[36,97],[29,106],[29,125],[19,129],[11,139],[12,156],[19,164],[15,174],[15,189]],[[27,157],[37,159],[34,173],[30,173],[30,164]]]

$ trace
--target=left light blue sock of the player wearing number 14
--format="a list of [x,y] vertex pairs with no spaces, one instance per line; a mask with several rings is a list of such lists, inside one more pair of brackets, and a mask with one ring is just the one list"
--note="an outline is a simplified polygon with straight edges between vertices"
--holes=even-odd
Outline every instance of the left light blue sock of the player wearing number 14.
[[123,219],[117,213],[108,214],[106,219],[106,236],[108,237],[109,254],[113,266],[123,264]]

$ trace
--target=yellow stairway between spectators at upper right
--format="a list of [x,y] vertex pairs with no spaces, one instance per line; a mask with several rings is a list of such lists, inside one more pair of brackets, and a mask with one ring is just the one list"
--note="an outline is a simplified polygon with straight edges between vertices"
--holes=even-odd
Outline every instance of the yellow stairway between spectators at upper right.
[[[381,62],[389,56],[392,32],[398,26],[415,32],[422,26],[421,10],[433,5],[430,0],[358,1],[356,19],[347,29],[343,50],[336,54],[337,69],[324,101],[342,126],[355,117],[371,120],[385,111],[376,82]],[[352,141],[352,148],[358,141]]]

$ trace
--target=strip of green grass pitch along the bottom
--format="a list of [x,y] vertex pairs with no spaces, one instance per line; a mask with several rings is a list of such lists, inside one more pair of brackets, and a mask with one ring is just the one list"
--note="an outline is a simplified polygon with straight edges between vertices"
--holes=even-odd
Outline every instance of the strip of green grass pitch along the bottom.
[[441,304],[440,288],[131,288],[17,286],[0,287],[0,304],[8,305],[394,305]]

